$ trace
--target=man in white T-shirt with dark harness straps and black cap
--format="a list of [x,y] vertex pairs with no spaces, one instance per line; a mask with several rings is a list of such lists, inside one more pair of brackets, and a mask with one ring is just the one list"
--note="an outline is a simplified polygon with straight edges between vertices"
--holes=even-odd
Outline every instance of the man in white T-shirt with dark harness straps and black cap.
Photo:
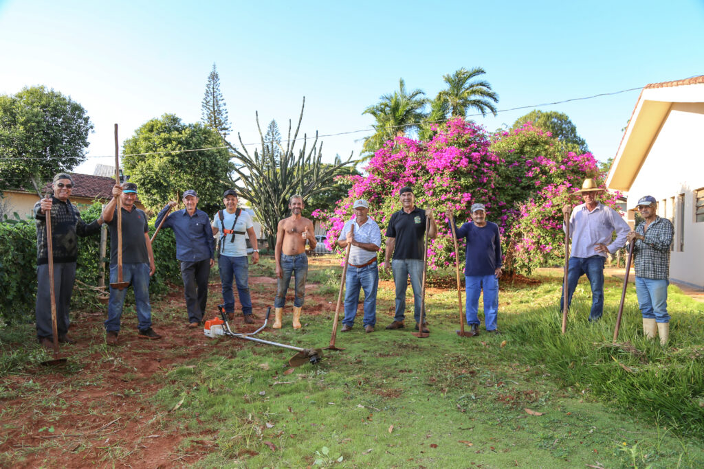
[[259,262],[259,249],[257,237],[254,233],[254,224],[249,213],[237,207],[237,192],[228,189],[222,194],[222,203],[225,210],[218,210],[213,217],[213,234],[220,233],[218,240],[218,269],[222,282],[222,301],[225,303],[225,312],[228,319],[234,319],[234,293],[232,292],[232,279],[237,284],[237,295],[242,305],[244,322],[254,323],[252,317],[252,299],[249,294],[248,276],[249,263],[247,261],[247,244],[245,234],[249,236],[252,245],[252,262]]

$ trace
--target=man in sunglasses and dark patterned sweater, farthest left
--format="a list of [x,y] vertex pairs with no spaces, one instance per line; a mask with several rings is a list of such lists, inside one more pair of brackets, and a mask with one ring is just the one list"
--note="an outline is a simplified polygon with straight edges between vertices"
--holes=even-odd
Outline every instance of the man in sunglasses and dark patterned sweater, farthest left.
[[53,328],[51,326],[51,294],[49,288],[49,249],[46,242],[46,214],[51,214],[51,240],[54,257],[54,290],[56,292],[56,329],[58,342],[73,343],[68,337],[70,319],[68,307],[71,302],[73,283],[76,278],[78,258],[77,236],[90,236],[99,233],[102,217],[90,224],[81,219],[77,207],[69,197],[73,190],[70,174],[54,176],[54,195],[43,198],[34,204],[34,218],[37,221],[37,304],[34,314],[37,318],[37,339],[47,349],[53,348]]

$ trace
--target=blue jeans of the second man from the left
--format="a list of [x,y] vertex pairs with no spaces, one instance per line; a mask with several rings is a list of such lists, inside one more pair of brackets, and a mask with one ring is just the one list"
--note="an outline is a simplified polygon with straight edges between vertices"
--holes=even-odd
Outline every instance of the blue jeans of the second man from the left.
[[[118,281],[118,264],[110,266],[110,283]],[[134,290],[134,308],[137,309],[139,330],[151,327],[151,306],[149,306],[149,264],[122,264],[122,281],[130,282]],[[110,301],[108,302],[108,319],[105,321],[105,330],[118,332],[120,330],[120,316],[122,304],[125,302],[127,288],[118,290],[110,288]]]

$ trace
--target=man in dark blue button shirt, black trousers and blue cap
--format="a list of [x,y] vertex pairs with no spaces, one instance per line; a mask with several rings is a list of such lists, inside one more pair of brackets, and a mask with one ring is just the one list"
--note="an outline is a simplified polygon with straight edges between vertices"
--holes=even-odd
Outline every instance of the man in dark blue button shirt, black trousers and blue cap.
[[[183,210],[173,212],[165,219],[162,228],[170,228],[176,238],[176,258],[181,261],[188,327],[197,328],[203,321],[208,301],[208,276],[215,265],[215,240],[208,214],[198,210],[198,194],[193,189],[183,193]],[[156,226],[169,207],[178,203],[170,201],[156,216]]]

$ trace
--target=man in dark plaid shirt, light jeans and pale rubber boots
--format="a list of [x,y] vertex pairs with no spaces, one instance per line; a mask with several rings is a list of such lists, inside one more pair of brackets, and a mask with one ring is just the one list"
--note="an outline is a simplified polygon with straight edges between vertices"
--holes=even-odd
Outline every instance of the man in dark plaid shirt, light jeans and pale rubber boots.
[[670,284],[670,245],[672,223],[655,214],[658,203],[651,195],[638,201],[636,209],[643,221],[627,240],[636,240],[633,255],[636,258],[636,295],[643,314],[643,333],[653,339],[660,334],[660,344],[667,344],[670,336],[670,315],[667,314],[667,285]]

